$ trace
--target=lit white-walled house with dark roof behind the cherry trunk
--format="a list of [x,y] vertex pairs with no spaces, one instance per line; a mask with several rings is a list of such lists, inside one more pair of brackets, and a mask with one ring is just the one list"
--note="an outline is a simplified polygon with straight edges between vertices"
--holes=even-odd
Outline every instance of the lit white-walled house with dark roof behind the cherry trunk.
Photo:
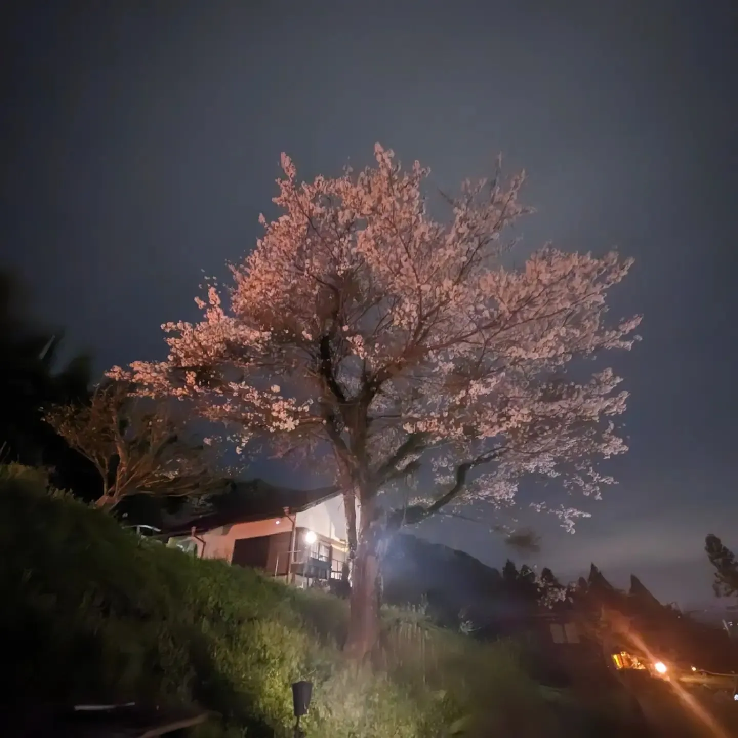
[[261,569],[300,587],[341,579],[348,546],[335,488],[284,489],[263,480],[229,484],[217,507],[165,516],[157,537],[201,558]]

